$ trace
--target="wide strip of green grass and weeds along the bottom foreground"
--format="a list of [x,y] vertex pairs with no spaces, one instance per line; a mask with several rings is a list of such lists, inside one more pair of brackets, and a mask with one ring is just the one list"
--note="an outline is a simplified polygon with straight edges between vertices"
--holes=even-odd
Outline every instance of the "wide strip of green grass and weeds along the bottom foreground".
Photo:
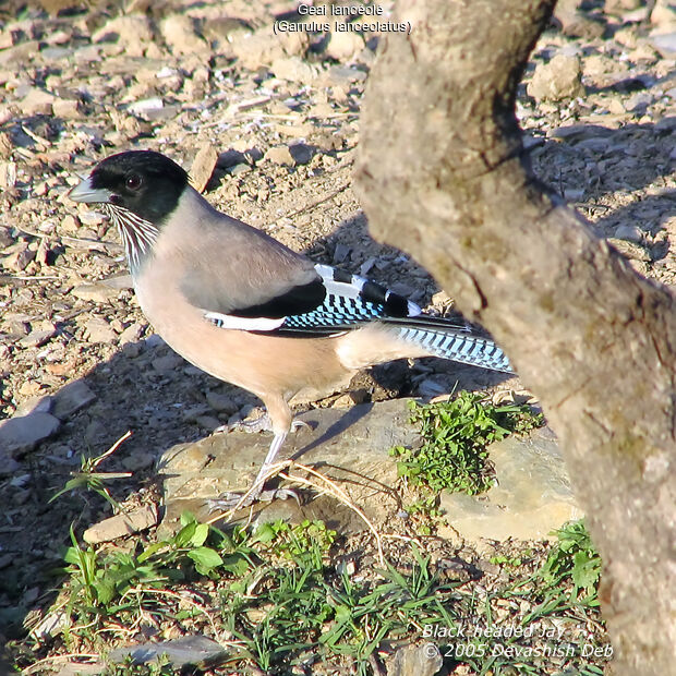
[[[534,675],[548,660],[538,651],[558,643],[538,638],[550,626],[545,620],[600,627],[600,559],[582,522],[558,531],[546,559],[524,577],[518,567],[535,560],[532,548],[494,557],[509,576],[490,590],[471,581],[444,581],[415,544],[407,545],[406,571],[386,565],[349,575],[333,563],[336,533],[321,521],[277,521],[229,533],[189,515],[182,522],[174,536],[138,544],[132,553],[84,548],[73,535],[65,553],[65,650],[105,654],[119,642],[116,627],[138,626],[145,618],[150,625],[181,627],[181,635],[214,636],[216,629],[216,638],[229,638],[230,654],[220,673],[256,665],[267,674],[289,674],[294,666],[321,662],[349,665],[366,676],[384,647],[391,651],[425,640],[438,645],[447,665],[467,664],[482,675]],[[505,607],[515,608],[507,618],[499,615]],[[434,627],[443,628],[445,637],[425,639]],[[492,632],[500,627],[520,627],[521,635],[496,638]],[[529,627],[532,636],[523,636]],[[584,640],[603,647],[600,629],[600,636]],[[575,645],[570,664],[577,673],[602,673],[603,660],[581,657],[581,639],[566,640]],[[106,673],[172,672],[160,662],[111,665]]]

